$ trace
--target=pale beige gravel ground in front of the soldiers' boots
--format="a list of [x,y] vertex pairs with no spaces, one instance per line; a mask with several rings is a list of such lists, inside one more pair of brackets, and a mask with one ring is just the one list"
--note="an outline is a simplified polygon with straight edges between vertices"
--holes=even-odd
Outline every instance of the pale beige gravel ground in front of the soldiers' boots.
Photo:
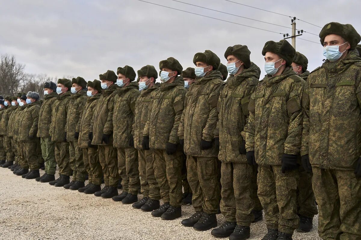
[[[26,180],[7,168],[0,168],[0,186],[0,239],[216,239],[211,230],[198,232],[181,225],[192,215],[191,205],[182,207],[181,218],[165,221],[111,199]],[[224,218],[217,218],[219,226]],[[311,232],[295,232],[293,239],[320,239],[317,220],[318,216]],[[265,232],[264,221],[254,223],[250,240],[261,239]]]

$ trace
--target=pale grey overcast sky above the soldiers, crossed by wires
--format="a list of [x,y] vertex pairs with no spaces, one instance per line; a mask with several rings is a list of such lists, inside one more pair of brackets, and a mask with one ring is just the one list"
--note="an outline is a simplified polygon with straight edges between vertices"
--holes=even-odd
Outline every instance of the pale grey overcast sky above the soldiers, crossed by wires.
[[[172,0],[146,0],[193,13],[265,30],[290,33],[291,29],[256,22]],[[259,21],[291,27],[289,17],[249,8],[225,0],[180,0]],[[329,22],[350,23],[361,34],[360,0],[245,1],[232,0],[323,27]],[[226,64],[228,46],[247,45],[251,61],[261,69],[266,41],[283,36],[216,19],[180,12],[138,0],[12,0],[1,1],[0,54],[13,54],[28,73],[48,76],[81,76],[99,79],[108,69],[144,65],[158,70],[160,60],[178,59],[183,69],[194,67],[193,56],[209,49]],[[319,34],[321,28],[297,21],[297,29]],[[319,37],[304,33],[296,50],[307,56],[309,70],[322,64]],[[159,80],[159,77],[158,77]]]

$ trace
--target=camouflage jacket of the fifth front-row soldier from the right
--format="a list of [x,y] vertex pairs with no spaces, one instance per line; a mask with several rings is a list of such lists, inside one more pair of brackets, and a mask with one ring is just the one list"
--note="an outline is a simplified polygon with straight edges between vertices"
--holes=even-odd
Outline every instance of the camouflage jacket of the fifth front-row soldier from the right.
[[151,112],[144,127],[149,148],[164,150],[167,142],[179,143],[177,132],[186,92],[183,77],[178,76],[172,83],[161,83],[152,96]]

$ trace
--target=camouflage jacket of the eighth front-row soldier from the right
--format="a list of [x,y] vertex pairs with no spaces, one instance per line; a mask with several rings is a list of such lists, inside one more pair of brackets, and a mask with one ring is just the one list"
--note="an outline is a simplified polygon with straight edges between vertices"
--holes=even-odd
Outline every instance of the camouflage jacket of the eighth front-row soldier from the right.
[[111,85],[109,89],[101,92],[101,96],[96,102],[90,123],[90,129],[93,131],[93,145],[107,145],[104,142],[101,143],[103,134],[110,135],[108,145],[113,145],[113,108],[118,89],[118,85]]

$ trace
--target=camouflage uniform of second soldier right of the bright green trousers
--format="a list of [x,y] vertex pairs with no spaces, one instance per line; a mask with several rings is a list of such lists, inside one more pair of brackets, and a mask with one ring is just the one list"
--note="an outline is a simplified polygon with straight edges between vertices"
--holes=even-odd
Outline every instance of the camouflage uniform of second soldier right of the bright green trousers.
[[85,181],[86,169],[84,167],[83,151],[78,148],[78,139],[75,138],[75,132],[79,132],[80,116],[83,114],[83,108],[87,101],[87,92],[82,90],[76,94],[71,94],[68,108],[68,117],[66,118],[66,140],[69,142],[69,166],[73,170],[72,181]]

